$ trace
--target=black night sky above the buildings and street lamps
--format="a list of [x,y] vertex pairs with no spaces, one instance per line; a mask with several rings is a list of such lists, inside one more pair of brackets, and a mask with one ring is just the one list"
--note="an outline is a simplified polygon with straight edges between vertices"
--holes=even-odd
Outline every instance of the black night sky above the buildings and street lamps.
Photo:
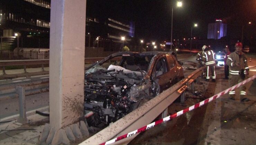
[[[170,40],[173,6],[173,39],[193,37],[207,39],[208,23],[222,19],[227,23],[227,37],[255,37],[256,0],[183,0],[177,8],[174,0],[87,0],[86,15],[135,23],[137,39]],[[253,25],[247,26],[251,21]]]

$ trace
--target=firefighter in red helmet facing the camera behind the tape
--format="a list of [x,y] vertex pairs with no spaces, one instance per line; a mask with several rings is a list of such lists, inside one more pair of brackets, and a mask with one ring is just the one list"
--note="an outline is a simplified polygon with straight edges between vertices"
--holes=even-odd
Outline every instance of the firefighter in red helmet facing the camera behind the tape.
[[[247,58],[242,52],[243,44],[237,42],[235,44],[236,51],[232,52],[228,59],[227,65],[229,66],[229,87],[232,87],[239,82],[243,81],[246,76],[249,75],[249,67],[247,64]],[[249,101],[246,98],[246,87],[243,85],[240,87],[240,101]],[[229,91],[229,96],[231,100],[235,100],[235,90]]]

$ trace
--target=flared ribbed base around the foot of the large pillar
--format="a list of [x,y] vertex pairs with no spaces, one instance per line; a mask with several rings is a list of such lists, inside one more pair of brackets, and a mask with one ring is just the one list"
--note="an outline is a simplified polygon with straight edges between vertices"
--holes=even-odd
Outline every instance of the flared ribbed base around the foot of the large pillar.
[[81,140],[82,138],[88,138],[89,131],[84,121],[72,124],[70,126],[66,126],[65,128],[58,129],[51,128],[49,124],[45,124],[43,132],[39,138],[40,144],[45,143],[60,145],[65,144],[69,145],[70,142],[75,142],[76,140]]

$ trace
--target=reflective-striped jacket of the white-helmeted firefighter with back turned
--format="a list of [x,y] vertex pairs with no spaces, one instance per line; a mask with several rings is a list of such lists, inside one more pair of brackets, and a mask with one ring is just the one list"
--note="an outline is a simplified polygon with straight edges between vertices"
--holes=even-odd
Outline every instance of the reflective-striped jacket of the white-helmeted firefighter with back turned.
[[214,66],[216,65],[216,54],[213,50],[206,48],[203,53],[203,61],[205,62],[205,66]]

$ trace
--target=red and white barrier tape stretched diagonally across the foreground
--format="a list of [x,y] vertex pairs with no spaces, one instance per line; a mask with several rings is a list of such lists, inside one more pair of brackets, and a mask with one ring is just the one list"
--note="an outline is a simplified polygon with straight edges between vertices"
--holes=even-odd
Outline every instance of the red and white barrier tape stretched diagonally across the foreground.
[[170,116],[167,116],[167,117],[165,117],[165,118],[162,118],[162,119],[160,119],[160,120],[157,120],[156,122],[150,123],[150,124],[148,124],[148,125],[146,125],[146,126],[143,126],[143,127],[139,128],[139,129],[135,130],[135,131],[132,131],[132,132],[130,132],[130,133],[128,133],[128,134],[124,134],[124,135],[118,136],[117,138],[111,139],[111,140],[109,140],[109,141],[107,141],[107,142],[105,142],[105,143],[102,143],[102,144],[100,144],[100,145],[109,145],[109,144],[115,143],[115,142],[117,142],[117,141],[120,141],[121,139],[124,139],[124,138],[130,137],[130,136],[132,136],[132,135],[135,135],[135,134],[137,134],[137,133],[144,132],[144,131],[146,131],[147,129],[150,129],[150,128],[156,126],[156,125],[159,125],[159,124],[161,124],[161,123],[164,123],[164,122],[166,122],[166,121],[168,121],[168,120],[171,120],[171,119],[173,119],[173,118],[176,118],[176,117],[178,117],[178,116],[180,116],[180,115],[182,115],[182,114],[184,114],[184,113],[186,113],[186,112],[189,112],[189,111],[191,111],[191,110],[193,110],[193,109],[195,109],[195,108],[198,108],[198,107],[200,107],[200,106],[202,106],[202,105],[205,105],[205,104],[209,103],[210,101],[212,101],[212,100],[214,100],[214,99],[217,99],[217,98],[219,98],[220,96],[222,96],[222,95],[224,95],[224,94],[227,94],[229,91],[234,90],[234,89],[236,89],[237,87],[240,87],[241,85],[244,85],[244,84],[248,83],[250,80],[253,80],[253,79],[255,79],[255,78],[256,78],[256,75],[254,75],[254,76],[252,76],[252,77],[250,77],[250,78],[248,78],[248,79],[246,79],[246,80],[244,80],[244,81],[241,81],[241,82],[238,83],[237,85],[232,86],[232,87],[230,87],[230,88],[228,88],[228,89],[226,89],[226,90],[224,90],[224,91],[221,91],[220,93],[218,93],[218,94],[216,94],[216,95],[214,95],[214,96],[212,96],[212,97],[210,97],[210,98],[208,98],[208,99],[205,99],[205,100],[203,100],[203,101],[201,101],[201,102],[199,102],[199,103],[196,103],[195,105],[190,106],[189,108],[186,108],[186,109],[181,110],[181,111],[179,111],[179,112],[177,112],[177,113],[175,113],[175,114],[172,114],[172,115],[170,115]]

